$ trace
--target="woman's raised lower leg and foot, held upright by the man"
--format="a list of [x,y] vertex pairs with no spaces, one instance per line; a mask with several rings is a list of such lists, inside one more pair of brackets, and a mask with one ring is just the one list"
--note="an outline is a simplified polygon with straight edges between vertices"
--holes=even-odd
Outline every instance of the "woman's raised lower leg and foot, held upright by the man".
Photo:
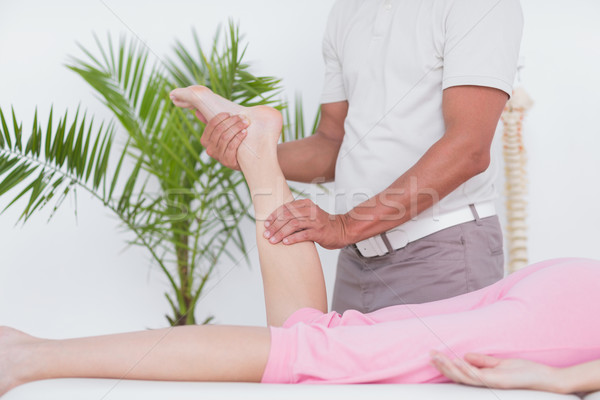
[[[202,86],[176,89],[171,98],[180,107],[198,110],[207,120],[220,112],[248,117],[248,137],[239,148],[238,163],[250,187],[257,222],[293,200],[277,161],[281,113],[270,107],[241,107]],[[314,243],[273,245],[263,238],[264,230],[262,223],[256,224],[268,324],[281,326],[304,307],[326,312],[325,281]]]

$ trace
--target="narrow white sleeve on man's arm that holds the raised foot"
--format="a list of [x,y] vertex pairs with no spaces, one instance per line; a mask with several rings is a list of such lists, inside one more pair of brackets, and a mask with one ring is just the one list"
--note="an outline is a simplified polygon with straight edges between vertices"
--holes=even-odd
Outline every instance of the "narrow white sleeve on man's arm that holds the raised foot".
[[329,14],[327,29],[323,38],[323,59],[325,61],[325,84],[321,95],[321,103],[334,103],[347,100],[344,87],[344,76],[342,73],[341,58],[338,53],[337,32],[340,6],[339,2],[333,6]]

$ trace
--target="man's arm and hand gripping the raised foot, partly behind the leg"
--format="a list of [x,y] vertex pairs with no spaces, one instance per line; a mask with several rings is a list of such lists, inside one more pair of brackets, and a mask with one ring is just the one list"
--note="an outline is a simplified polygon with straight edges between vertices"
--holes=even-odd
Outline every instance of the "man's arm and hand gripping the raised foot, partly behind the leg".
[[[321,119],[312,136],[279,145],[277,155],[286,179],[298,182],[334,179],[347,114],[347,101],[322,104]],[[247,126],[248,122],[241,116],[218,114],[206,125],[202,145],[209,156],[239,170],[237,150],[246,137]]]

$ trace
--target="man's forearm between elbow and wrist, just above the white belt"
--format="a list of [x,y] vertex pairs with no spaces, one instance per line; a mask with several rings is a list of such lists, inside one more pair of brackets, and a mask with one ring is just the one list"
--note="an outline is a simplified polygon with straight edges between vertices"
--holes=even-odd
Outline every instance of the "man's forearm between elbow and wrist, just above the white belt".
[[442,138],[386,190],[344,216],[348,239],[356,243],[409,221],[488,165],[489,151]]

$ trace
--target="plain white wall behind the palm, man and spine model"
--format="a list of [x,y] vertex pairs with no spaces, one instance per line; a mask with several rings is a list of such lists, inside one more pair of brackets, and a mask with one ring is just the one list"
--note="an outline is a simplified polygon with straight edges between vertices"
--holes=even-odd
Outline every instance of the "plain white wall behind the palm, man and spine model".
[[[135,32],[156,54],[190,28],[209,43],[229,16],[250,42],[258,74],[284,78],[288,96],[301,91],[307,111],[318,105],[323,64],[321,35],[333,0],[75,1],[0,3],[0,106],[14,105],[29,126],[38,106],[47,115],[82,104],[98,118],[110,115],[77,76],[64,68],[80,54],[75,41],[91,32]],[[527,117],[530,171],[530,256],[600,258],[600,3],[595,0],[522,0],[526,19],[522,84],[536,101]],[[568,8],[567,8],[568,7]],[[312,117],[312,115],[310,116]],[[0,207],[7,199],[0,200]],[[48,212],[24,227],[17,209],[0,216],[0,324],[47,337],[157,328],[168,312],[167,284],[142,249],[125,249],[126,235],[101,205],[80,194],[50,224]],[[247,224],[252,242],[253,230]],[[322,251],[329,288],[336,252]],[[253,265],[224,261],[199,315],[217,322],[263,324],[257,255]]]

